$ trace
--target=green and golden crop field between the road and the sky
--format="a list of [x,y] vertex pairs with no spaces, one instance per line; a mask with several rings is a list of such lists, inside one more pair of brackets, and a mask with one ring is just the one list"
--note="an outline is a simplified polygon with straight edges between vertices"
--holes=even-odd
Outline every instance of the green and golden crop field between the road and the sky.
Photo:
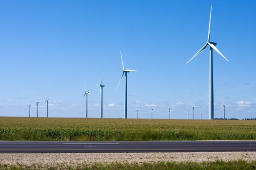
[[0,117],[0,140],[256,140],[256,120]]

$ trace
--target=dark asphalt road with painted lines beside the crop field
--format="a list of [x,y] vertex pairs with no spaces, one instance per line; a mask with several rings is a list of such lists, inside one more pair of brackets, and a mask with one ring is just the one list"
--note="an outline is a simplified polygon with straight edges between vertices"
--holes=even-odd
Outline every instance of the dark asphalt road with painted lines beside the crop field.
[[256,152],[256,141],[0,141],[0,153]]

